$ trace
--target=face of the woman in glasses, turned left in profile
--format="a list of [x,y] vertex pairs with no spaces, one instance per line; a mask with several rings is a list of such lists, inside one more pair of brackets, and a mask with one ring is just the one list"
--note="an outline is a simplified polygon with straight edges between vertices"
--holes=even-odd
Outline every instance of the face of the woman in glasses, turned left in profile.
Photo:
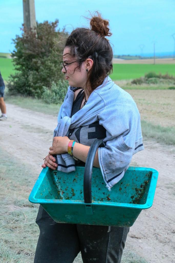
[[[76,58],[72,57],[70,54],[70,48],[65,47],[63,51],[63,67],[62,72],[65,73],[65,78],[68,80],[71,87],[85,87],[87,81],[87,72],[86,72],[86,62],[84,61],[79,68],[79,64],[76,61]],[[74,62],[75,61],[75,62]],[[73,63],[72,63],[73,62]],[[66,65],[72,63],[70,65]]]

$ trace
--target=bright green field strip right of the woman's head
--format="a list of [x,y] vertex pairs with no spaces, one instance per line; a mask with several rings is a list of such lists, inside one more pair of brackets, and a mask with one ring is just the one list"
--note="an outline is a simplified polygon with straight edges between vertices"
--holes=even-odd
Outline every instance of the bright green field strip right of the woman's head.
[[175,64],[113,64],[112,80],[140,78],[148,72],[175,76]]

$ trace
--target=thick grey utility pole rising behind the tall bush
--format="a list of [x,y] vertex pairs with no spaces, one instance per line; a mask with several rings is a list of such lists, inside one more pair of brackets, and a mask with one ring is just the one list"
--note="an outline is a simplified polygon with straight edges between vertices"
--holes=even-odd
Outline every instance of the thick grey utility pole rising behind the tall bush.
[[23,17],[27,30],[36,28],[35,0],[23,0]]

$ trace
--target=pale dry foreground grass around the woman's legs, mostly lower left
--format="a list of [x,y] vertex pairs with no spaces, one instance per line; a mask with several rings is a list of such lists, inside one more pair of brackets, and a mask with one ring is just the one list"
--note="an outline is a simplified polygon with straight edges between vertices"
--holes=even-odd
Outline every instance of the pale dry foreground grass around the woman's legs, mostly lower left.
[[[28,196],[37,175],[32,173],[30,167],[12,157],[9,159],[0,149],[0,262],[32,263],[39,236],[35,224],[38,205],[29,203]],[[82,263],[80,254],[74,262]],[[128,262],[147,263],[126,248],[122,263]]]

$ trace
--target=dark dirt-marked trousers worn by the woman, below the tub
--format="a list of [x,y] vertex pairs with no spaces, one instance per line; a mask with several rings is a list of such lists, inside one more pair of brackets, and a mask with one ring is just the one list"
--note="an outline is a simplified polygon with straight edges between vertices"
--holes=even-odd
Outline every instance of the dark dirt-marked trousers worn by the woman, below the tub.
[[40,206],[40,235],[34,263],[72,263],[81,251],[83,263],[120,263],[129,227],[56,223]]

